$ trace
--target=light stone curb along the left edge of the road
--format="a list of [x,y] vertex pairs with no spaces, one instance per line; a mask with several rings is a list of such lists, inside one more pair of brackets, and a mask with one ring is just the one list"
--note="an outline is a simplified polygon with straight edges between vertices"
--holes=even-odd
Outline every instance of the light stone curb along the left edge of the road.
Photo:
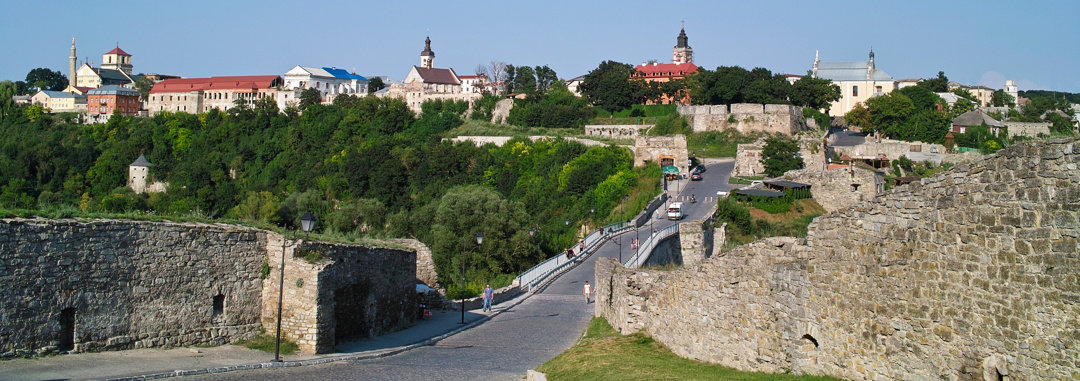
[[521,304],[526,299],[528,299],[529,296],[531,296],[531,292],[522,292],[521,296],[518,296],[517,298],[515,298],[515,299],[518,299],[518,300],[516,300],[516,301],[514,301],[513,299],[508,300],[508,302],[511,302],[511,304],[508,304],[507,308],[504,308],[504,309],[502,309],[500,311],[496,311],[495,313],[492,313],[490,315],[485,315],[485,316],[483,316],[483,317],[481,317],[481,318],[478,318],[478,319],[476,319],[476,321],[474,321],[472,323],[469,323],[469,324],[465,324],[465,325],[463,325],[461,327],[455,328],[454,330],[450,330],[449,332],[446,332],[446,334],[443,334],[443,335],[438,335],[438,336],[435,336],[433,338],[426,339],[426,340],[422,340],[422,341],[419,341],[419,342],[415,342],[415,343],[411,343],[411,344],[408,344],[408,345],[401,345],[401,346],[382,349],[382,350],[370,350],[370,351],[357,352],[357,353],[349,353],[349,354],[327,355],[327,356],[324,356],[324,357],[302,359],[302,360],[296,360],[296,362],[281,362],[281,363],[267,362],[267,363],[256,363],[256,364],[245,364],[245,365],[233,365],[233,366],[217,367],[217,368],[180,369],[180,370],[173,370],[173,371],[167,371],[167,372],[139,375],[139,376],[130,376],[130,377],[119,377],[119,378],[111,378],[111,379],[104,379],[104,380],[106,380],[106,381],[159,380],[159,379],[166,379],[166,378],[173,378],[173,377],[197,376],[197,375],[211,375],[211,373],[224,373],[224,372],[235,371],[235,370],[252,370],[252,369],[267,369],[267,368],[294,368],[294,367],[301,367],[301,366],[309,366],[309,365],[320,365],[320,364],[328,364],[328,363],[335,363],[335,362],[341,362],[341,360],[350,360],[350,359],[382,358],[382,357],[392,356],[392,355],[395,355],[395,354],[399,354],[399,353],[402,353],[402,352],[406,352],[406,351],[409,351],[409,350],[413,350],[413,349],[417,349],[417,348],[420,348],[420,346],[434,345],[435,343],[437,343],[437,342],[440,342],[440,341],[442,341],[442,340],[444,340],[444,339],[446,339],[448,337],[451,337],[454,335],[460,334],[460,332],[462,332],[462,331],[464,331],[467,329],[473,328],[473,327],[480,325],[481,323],[487,322],[491,317],[495,317],[495,316],[498,316],[498,315],[502,314],[503,311],[507,311],[507,310],[510,310],[510,309],[512,309],[514,307],[517,307],[517,304]]

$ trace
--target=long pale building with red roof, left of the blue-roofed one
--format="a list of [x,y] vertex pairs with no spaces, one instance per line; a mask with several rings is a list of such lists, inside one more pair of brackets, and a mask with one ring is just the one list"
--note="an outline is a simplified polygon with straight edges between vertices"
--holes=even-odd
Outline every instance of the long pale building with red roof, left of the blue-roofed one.
[[278,91],[283,82],[279,76],[167,79],[150,90],[147,109],[151,115],[161,111],[201,113],[210,109],[227,110],[238,99],[255,107],[256,101],[265,98],[284,108],[296,100],[297,92]]

